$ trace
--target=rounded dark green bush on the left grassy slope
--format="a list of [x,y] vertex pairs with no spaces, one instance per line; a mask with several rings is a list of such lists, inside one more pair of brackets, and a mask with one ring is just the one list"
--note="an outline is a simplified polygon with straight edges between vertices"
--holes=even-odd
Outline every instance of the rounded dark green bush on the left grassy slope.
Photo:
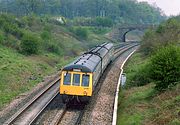
[[26,55],[37,54],[40,48],[39,43],[40,41],[36,36],[25,34],[20,44],[22,53]]

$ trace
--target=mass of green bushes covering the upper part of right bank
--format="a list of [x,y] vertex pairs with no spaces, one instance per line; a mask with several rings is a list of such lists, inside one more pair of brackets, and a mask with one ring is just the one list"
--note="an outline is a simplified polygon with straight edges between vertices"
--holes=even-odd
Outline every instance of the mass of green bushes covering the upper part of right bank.
[[179,17],[173,17],[145,33],[139,56],[143,62],[127,69],[127,87],[154,82],[163,91],[180,81],[179,22]]

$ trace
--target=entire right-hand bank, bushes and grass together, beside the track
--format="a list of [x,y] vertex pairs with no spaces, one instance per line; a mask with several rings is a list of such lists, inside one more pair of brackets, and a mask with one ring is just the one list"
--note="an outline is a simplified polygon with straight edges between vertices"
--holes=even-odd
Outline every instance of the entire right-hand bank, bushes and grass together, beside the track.
[[118,125],[179,125],[180,16],[145,33],[140,50],[125,67]]

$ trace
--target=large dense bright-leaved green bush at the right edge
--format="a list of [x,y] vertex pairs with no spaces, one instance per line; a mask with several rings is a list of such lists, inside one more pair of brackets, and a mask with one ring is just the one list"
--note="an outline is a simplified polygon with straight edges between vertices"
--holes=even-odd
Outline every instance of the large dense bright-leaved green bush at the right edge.
[[159,49],[151,58],[151,71],[157,90],[175,85],[180,80],[180,48],[170,45]]

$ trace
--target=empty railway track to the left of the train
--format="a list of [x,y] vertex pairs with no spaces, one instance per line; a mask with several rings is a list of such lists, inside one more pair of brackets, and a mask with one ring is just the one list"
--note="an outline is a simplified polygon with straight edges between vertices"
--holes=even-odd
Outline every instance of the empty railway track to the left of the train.
[[59,81],[54,80],[50,85],[43,89],[38,95],[16,112],[4,125],[28,125],[31,124],[46,106],[58,95]]

